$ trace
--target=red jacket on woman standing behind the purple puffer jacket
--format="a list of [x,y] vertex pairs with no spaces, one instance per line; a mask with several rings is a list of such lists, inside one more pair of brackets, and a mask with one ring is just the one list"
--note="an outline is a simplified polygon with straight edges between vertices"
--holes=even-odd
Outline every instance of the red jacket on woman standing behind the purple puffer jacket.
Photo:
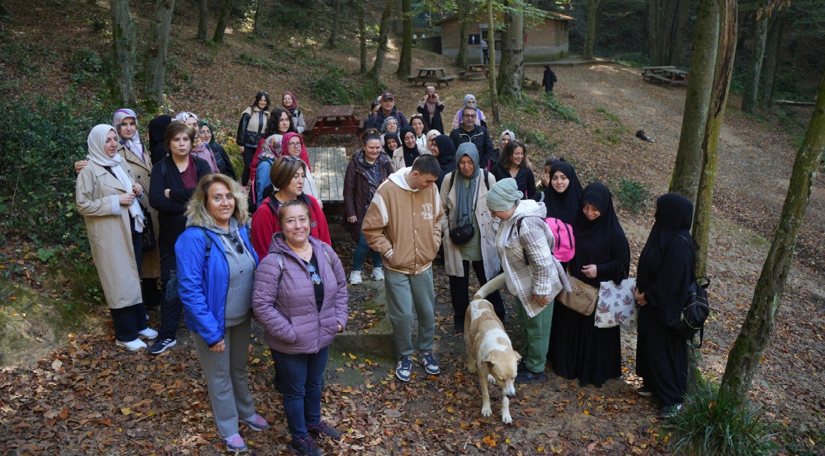
[[[310,234],[312,237],[332,245],[332,239],[329,237],[329,226],[327,225],[327,218],[318,201],[310,195],[301,194],[298,197],[303,199],[309,206],[310,217],[312,223],[310,225]],[[273,209],[273,204],[275,206]],[[269,252],[269,244],[272,243],[272,235],[281,231],[281,225],[278,223],[278,214],[276,211],[281,207],[280,202],[275,198],[275,195],[269,196],[261,202],[260,208],[252,215],[252,248],[258,254],[258,258],[264,259],[267,252]]]

